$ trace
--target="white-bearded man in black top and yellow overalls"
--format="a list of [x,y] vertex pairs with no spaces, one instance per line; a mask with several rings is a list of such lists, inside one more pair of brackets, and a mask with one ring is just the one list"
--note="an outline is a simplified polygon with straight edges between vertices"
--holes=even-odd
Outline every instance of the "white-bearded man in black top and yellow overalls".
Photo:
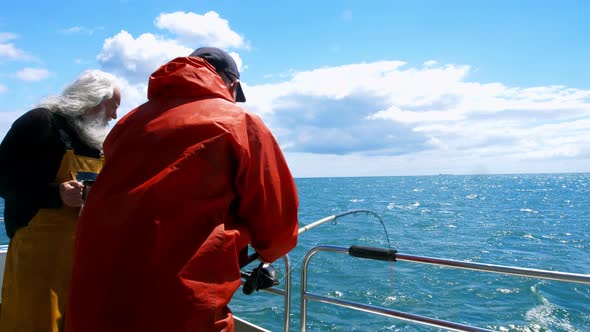
[[17,119],[0,145],[0,197],[10,245],[0,331],[62,331],[84,180],[104,164],[117,118],[116,78],[90,70]]

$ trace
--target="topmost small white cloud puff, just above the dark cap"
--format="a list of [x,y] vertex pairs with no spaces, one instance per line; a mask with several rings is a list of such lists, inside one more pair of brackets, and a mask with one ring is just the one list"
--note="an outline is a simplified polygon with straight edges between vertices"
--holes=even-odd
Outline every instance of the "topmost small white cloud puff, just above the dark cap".
[[185,45],[193,49],[201,46],[219,48],[245,48],[242,36],[233,31],[229,22],[216,12],[199,15],[191,12],[160,14],[155,24],[160,29],[174,33]]

